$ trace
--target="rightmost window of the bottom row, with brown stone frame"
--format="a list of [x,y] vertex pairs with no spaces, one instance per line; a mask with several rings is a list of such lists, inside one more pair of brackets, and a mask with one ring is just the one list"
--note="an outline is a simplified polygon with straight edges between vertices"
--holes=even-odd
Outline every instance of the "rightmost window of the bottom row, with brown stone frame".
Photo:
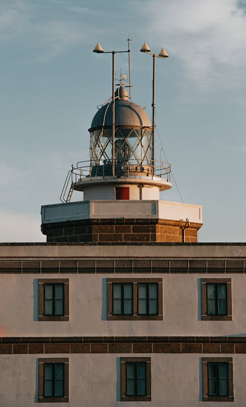
[[233,402],[231,357],[202,358],[203,401]]

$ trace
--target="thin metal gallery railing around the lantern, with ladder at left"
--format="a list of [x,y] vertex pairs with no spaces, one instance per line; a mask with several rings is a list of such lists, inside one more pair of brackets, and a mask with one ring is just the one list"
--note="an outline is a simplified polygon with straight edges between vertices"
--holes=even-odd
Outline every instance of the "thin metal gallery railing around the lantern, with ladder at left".
[[[154,161],[154,165],[148,163],[139,164],[137,160],[115,160],[115,176],[148,176],[150,178],[166,175],[167,181],[170,182],[171,164],[165,161]],[[78,161],[76,167],[72,165],[68,171],[60,196],[60,201],[63,203],[70,202],[74,184],[86,177],[105,177],[112,175],[113,163],[112,160],[103,163],[93,161]]]

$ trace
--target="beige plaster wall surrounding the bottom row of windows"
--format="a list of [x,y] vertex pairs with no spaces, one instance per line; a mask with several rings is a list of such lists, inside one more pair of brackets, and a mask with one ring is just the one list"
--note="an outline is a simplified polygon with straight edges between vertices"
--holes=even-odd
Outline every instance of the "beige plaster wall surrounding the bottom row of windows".
[[[223,407],[202,402],[200,354],[152,354],[152,401],[124,402],[124,407]],[[128,354],[59,354],[69,357],[69,403],[59,406],[116,407],[120,400],[120,357]],[[136,354],[134,356],[143,356]],[[214,357],[215,354],[208,354]],[[223,355],[231,356],[231,355]],[[31,407],[37,400],[37,358],[43,355],[0,356],[0,406]],[[54,357],[54,354],[45,355]],[[246,355],[233,355],[234,403],[246,400]],[[47,406],[46,403],[39,403]],[[52,404],[53,405],[53,404]],[[55,405],[55,404],[54,404]]]

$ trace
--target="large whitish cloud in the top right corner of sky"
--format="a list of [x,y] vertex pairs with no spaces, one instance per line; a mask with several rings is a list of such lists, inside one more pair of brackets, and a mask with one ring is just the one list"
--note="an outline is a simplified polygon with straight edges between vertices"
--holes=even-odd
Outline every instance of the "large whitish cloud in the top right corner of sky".
[[148,37],[179,58],[204,90],[245,84],[246,14],[236,0],[149,0]]

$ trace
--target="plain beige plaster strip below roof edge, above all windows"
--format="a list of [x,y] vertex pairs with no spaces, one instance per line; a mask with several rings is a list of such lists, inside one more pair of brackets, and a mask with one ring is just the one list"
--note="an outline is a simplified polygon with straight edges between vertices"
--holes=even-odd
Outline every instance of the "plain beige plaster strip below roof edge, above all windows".
[[246,258],[246,245],[220,245],[218,244],[202,244],[199,245],[163,245],[149,246],[141,245],[135,246],[130,244],[112,246],[110,244],[103,246],[92,246],[92,245],[55,245],[49,246],[44,244],[35,244],[33,246],[29,245],[0,245],[0,257],[2,259],[7,259],[9,257],[14,258],[26,258],[26,259],[40,259],[40,258],[88,258],[96,259],[103,258],[134,258],[144,260],[148,257],[151,258]]

